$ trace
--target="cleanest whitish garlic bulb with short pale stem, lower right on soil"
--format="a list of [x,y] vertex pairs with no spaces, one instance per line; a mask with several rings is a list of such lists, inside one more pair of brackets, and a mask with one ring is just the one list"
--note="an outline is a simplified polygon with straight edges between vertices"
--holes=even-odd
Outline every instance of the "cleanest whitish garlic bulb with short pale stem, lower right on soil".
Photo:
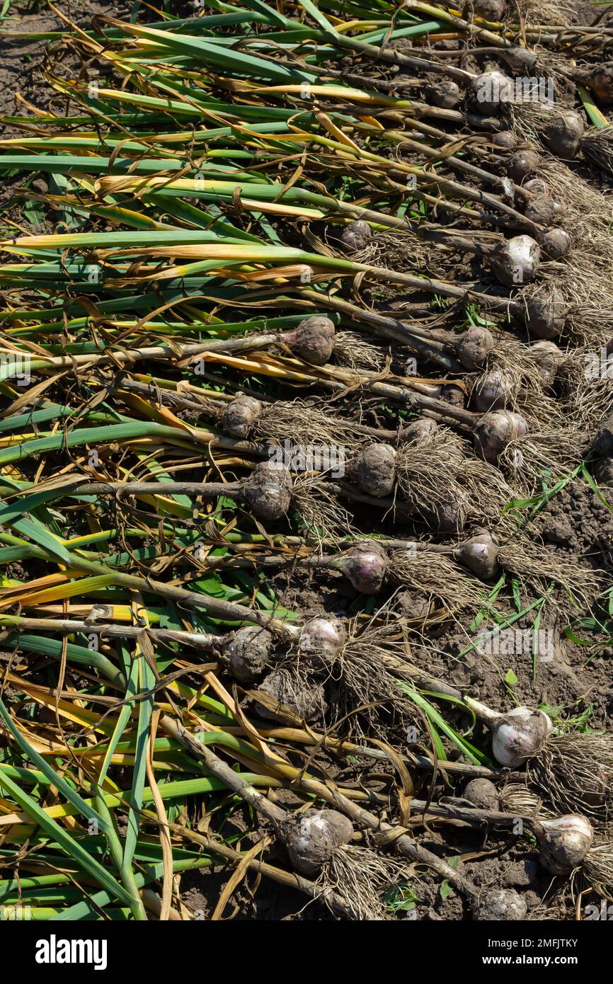
[[465,703],[487,724],[492,732],[494,758],[507,769],[518,769],[538,755],[553,730],[551,718],[544,710],[514,707],[500,714],[471,697]]

